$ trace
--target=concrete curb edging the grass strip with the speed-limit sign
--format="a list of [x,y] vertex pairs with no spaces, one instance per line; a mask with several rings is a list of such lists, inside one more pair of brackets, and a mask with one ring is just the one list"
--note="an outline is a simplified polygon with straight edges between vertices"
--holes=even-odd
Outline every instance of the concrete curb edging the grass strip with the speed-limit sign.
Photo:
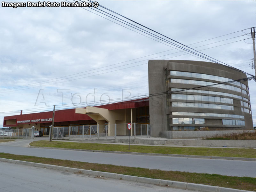
[[61,150],[71,150],[71,151],[87,151],[87,152],[99,152],[99,153],[131,154],[131,155],[171,156],[171,157],[187,157],[187,158],[203,158],[203,159],[256,161],[256,158],[245,158],[245,157],[197,156],[197,155],[176,155],[176,154],[162,154],[162,153],[139,153],[139,152],[125,152],[125,151],[102,151],[102,150],[89,150],[89,149],[69,149],[69,148],[56,148],[56,147],[34,147],[34,146],[29,145],[29,144],[28,144],[28,147],[44,148],[44,149],[61,149]]

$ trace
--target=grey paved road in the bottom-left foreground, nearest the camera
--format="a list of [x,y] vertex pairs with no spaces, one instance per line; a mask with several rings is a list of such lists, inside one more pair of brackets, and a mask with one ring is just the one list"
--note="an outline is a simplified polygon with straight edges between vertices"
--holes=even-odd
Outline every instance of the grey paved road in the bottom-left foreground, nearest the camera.
[[0,162],[0,169],[1,192],[193,192],[132,181],[98,179],[87,175],[76,175],[70,172],[58,172],[5,162]]

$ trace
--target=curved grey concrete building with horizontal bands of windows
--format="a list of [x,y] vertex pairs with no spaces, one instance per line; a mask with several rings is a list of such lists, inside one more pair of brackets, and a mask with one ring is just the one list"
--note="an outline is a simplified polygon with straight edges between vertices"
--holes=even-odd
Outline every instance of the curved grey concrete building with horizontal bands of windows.
[[248,82],[234,81],[244,78],[244,73],[217,63],[149,60],[152,135],[183,130],[252,130]]

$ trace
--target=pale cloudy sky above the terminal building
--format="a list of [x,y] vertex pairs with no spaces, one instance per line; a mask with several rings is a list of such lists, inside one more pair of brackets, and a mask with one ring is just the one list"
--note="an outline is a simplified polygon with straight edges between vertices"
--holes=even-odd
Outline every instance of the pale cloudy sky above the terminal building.
[[[98,3],[254,75],[248,35],[248,28],[256,26],[254,1]],[[87,10],[96,13],[80,7],[0,7],[0,127],[4,116],[20,110],[25,114],[53,105],[57,110],[143,97],[149,59],[204,61]],[[255,126],[254,81],[249,89]]]

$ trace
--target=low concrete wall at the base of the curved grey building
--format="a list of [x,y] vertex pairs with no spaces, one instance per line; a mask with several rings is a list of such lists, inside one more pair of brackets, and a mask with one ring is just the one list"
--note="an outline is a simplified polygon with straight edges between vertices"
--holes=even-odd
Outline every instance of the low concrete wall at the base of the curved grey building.
[[[254,130],[232,130],[232,131],[166,131],[160,132],[160,137],[167,139],[189,139],[189,138],[210,138],[233,133],[255,132]],[[256,140],[255,140],[256,143]]]

